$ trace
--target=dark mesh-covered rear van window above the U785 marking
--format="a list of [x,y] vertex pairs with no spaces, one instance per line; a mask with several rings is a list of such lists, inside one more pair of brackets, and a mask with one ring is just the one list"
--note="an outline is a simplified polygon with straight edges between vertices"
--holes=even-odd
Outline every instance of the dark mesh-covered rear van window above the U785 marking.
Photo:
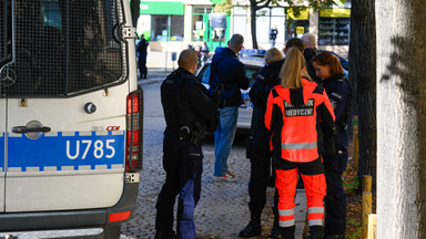
[[[116,37],[123,21],[121,3],[21,0],[13,4],[14,54],[0,75],[16,79],[2,84],[0,97],[67,97],[125,81],[125,44]],[[0,30],[4,39],[7,31]]]

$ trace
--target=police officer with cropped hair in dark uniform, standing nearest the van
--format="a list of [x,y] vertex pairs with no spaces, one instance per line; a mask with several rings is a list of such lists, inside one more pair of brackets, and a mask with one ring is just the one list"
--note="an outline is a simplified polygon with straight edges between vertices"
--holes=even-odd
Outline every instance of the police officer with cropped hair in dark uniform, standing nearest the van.
[[[195,238],[194,208],[200,199],[203,170],[201,149],[205,131],[214,131],[221,89],[212,98],[193,75],[197,55],[184,50],[179,56],[179,69],[161,85],[166,128],[163,141],[165,183],[156,201],[155,239]],[[173,230],[173,207],[179,195],[178,235]]]

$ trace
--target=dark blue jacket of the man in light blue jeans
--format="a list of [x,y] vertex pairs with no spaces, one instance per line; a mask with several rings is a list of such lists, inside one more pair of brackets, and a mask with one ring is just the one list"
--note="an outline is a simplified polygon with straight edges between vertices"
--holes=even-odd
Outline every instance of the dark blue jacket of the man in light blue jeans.
[[247,90],[250,81],[245,75],[244,64],[239,61],[234,51],[229,48],[216,52],[211,64],[210,94],[217,84],[223,84],[222,100],[225,106],[243,104],[240,89]]

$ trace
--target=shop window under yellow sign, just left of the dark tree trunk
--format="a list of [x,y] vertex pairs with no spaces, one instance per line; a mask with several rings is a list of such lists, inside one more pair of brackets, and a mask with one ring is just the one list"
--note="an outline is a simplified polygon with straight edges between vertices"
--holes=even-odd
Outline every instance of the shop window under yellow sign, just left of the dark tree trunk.
[[325,9],[320,12],[320,45],[348,45],[351,9]]

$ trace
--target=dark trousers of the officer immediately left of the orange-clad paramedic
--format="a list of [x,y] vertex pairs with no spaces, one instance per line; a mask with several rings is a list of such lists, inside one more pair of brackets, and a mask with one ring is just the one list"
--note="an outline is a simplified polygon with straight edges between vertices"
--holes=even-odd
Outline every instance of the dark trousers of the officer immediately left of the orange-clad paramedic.
[[[271,176],[271,156],[272,153],[266,150],[262,154],[253,153],[250,158],[248,208],[252,219],[261,219],[262,210],[266,205],[266,189],[271,185],[271,180],[273,180]],[[277,218],[276,205],[274,205],[273,211],[275,218]]]

